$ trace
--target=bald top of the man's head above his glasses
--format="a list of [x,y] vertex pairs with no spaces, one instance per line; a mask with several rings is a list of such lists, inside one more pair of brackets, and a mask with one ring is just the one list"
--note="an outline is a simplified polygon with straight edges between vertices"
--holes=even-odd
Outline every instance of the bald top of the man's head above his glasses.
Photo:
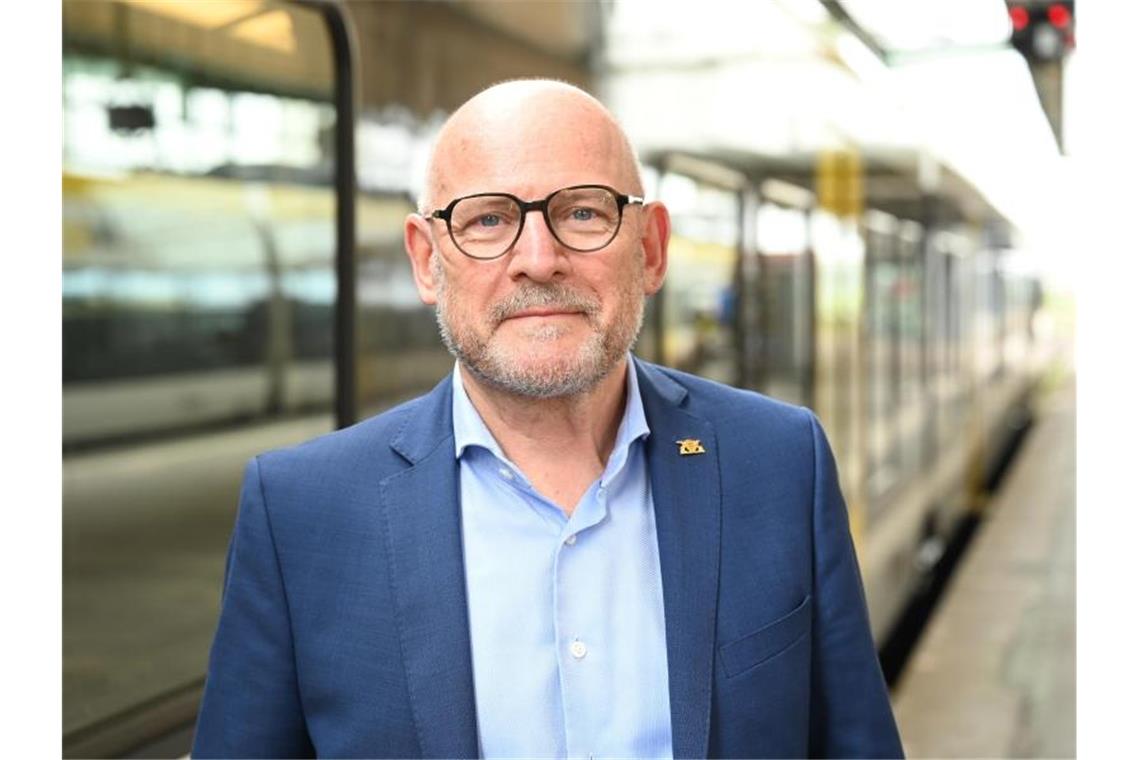
[[427,164],[421,211],[475,193],[524,198],[603,183],[643,195],[637,158],[613,115],[587,92],[553,80],[488,88],[443,124]]

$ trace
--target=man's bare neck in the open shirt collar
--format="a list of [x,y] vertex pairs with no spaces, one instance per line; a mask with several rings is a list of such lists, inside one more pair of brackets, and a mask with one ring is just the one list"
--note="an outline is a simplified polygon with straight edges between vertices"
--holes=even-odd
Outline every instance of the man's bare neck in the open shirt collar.
[[534,399],[481,383],[462,365],[463,387],[503,452],[568,514],[602,474],[626,401],[628,357],[586,393]]

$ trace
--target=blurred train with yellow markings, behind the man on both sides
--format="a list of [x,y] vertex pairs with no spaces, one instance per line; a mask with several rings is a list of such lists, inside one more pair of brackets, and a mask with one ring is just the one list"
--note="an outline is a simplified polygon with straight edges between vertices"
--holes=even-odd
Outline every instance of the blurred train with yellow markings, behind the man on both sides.
[[[357,113],[341,5],[63,10],[63,733],[90,757],[189,730],[244,463],[453,359],[402,250],[413,172],[375,179],[353,142],[426,146],[439,120]],[[674,235],[635,352],[820,416],[882,644],[1052,346],[982,191],[919,182],[918,153],[842,155],[854,201],[829,196],[834,156],[641,150]]]

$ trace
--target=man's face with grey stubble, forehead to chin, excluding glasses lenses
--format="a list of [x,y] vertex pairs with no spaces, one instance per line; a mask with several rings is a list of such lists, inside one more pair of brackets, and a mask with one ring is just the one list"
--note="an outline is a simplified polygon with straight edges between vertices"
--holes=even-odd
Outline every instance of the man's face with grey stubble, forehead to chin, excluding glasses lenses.
[[[498,120],[463,140],[462,150],[442,153],[435,207],[474,193],[532,201],[584,183],[637,194],[609,125],[575,111],[547,116]],[[515,395],[591,390],[633,346],[645,295],[660,286],[656,272],[646,273],[648,213],[627,206],[609,245],[579,253],[554,238],[540,212],[531,212],[514,246],[489,261],[464,255],[443,221],[426,222],[432,286],[424,300],[435,303],[445,344],[480,381]]]

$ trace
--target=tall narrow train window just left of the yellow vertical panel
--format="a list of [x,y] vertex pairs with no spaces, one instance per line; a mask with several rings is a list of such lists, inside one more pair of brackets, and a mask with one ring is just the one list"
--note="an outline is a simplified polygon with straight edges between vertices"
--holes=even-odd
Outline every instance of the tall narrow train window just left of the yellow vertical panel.
[[773,203],[756,214],[760,252],[763,390],[789,403],[812,403],[814,272],[807,214]]

